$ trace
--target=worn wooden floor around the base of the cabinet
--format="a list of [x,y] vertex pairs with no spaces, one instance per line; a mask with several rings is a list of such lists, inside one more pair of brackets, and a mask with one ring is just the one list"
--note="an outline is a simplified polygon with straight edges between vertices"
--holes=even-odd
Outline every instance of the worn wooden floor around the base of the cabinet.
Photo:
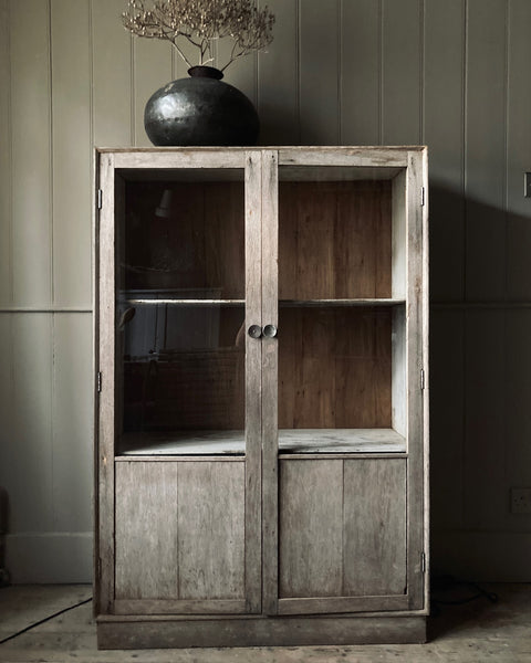
[[[434,597],[430,640],[424,645],[97,651],[91,602],[69,610],[0,644],[1,663],[531,663],[531,585],[446,585]],[[91,598],[86,585],[0,589],[0,641]],[[441,603],[440,601],[445,601]],[[458,604],[449,604],[450,602]]]

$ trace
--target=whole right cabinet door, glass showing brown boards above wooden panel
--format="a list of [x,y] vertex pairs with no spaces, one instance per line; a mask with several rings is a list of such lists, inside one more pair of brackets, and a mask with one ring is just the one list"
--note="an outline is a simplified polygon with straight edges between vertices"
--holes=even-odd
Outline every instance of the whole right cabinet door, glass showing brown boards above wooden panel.
[[278,327],[263,339],[264,357],[277,352],[264,364],[274,397],[263,414],[270,613],[423,606],[424,543],[410,525],[423,518],[414,498],[423,484],[408,457],[423,445],[421,422],[409,417],[421,401],[423,274],[421,261],[406,260],[421,213],[408,169],[404,157],[375,168],[355,155],[320,162],[303,148],[279,150],[278,274],[273,265],[262,305]]

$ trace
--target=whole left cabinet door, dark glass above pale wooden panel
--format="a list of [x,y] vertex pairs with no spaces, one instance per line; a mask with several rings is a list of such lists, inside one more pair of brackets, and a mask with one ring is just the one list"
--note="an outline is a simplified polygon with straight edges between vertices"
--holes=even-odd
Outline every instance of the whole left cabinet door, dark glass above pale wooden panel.
[[115,496],[101,520],[114,541],[107,601],[115,613],[257,611],[259,159],[101,164],[100,365],[115,394],[103,391],[101,412]]

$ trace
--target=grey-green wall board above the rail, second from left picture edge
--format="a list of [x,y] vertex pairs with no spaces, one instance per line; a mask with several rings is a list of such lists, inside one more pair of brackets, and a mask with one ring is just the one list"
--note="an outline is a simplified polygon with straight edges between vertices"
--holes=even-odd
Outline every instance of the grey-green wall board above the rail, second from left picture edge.
[[20,0],[10,9],[13,303],[46,306],[52,298],[50,3]]

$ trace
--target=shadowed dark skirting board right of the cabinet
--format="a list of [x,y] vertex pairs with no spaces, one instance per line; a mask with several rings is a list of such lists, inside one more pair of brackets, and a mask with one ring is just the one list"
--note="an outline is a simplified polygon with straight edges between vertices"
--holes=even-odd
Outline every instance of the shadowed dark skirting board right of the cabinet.
[[478,582],[530,582],[531,533],[431,532],[431,575]]

